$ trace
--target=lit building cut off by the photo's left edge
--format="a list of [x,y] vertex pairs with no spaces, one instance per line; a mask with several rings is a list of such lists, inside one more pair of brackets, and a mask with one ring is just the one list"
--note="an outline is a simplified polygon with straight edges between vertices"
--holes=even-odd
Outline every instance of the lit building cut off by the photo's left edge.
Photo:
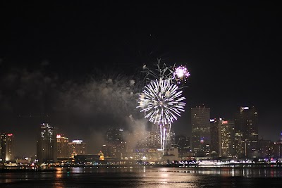
[[11,133],[1,132],[0,135],[0,159],[12,161],[15,158],[14,136]]

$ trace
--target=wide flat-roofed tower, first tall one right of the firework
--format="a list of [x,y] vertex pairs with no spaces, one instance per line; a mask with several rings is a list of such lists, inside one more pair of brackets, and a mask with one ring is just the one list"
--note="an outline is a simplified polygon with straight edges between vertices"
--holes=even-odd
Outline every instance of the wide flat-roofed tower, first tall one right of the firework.
[[204,106],[191,108],[192,151],[197,156],[205,156],[209,152],[210,137],[210,109]]

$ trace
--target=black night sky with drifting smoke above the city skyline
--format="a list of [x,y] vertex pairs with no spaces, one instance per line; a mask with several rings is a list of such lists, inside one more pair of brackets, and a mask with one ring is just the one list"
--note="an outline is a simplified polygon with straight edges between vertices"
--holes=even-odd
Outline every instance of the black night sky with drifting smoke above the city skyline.
[[259,136],[276,141],[282,7],[173,2],[1,1],[0,131],[15,134],[16,154],[35,155],[43,122],[91,153],[106,127],[142,130],[142,67],[158,59],[190,70],[177,134],[190,136],[191,107],[232,119],[255,106]]

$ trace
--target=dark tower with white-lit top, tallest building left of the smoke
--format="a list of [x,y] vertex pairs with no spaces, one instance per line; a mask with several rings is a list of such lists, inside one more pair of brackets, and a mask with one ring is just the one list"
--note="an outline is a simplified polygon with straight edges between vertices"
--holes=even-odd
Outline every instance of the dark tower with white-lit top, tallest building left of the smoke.
[[38,163],[55,163],[57,153],[56,128],[49,123],[42,123],[37,139]]

